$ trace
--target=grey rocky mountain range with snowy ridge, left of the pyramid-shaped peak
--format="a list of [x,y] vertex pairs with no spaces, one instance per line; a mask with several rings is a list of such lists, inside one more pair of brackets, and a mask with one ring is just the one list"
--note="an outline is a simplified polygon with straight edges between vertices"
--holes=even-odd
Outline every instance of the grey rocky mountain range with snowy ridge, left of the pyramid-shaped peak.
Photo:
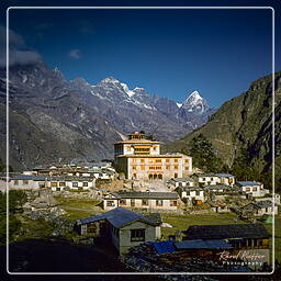
[[[112,158],[113,144],[131,132],[143,130],[172,142],[202,125],[205,117],[192,123],[190,114],[189,119],[179,114],[175,101],[149,95],[143,88],[131,90],[113,77],[97,85],[83,78],[66,81],[58,69],[43,63],[10,67],[9,81],[9,155],[14,169],[72,158]],[[0,69],[2,159],[5,88],[5,70]]]

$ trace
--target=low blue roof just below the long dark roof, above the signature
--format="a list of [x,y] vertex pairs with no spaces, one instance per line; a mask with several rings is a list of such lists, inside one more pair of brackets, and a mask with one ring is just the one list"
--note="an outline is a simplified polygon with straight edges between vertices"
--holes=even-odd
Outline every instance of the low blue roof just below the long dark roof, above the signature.
[[232,249],[232,245],[225,240],[182,240],[176,241],[177,249]]

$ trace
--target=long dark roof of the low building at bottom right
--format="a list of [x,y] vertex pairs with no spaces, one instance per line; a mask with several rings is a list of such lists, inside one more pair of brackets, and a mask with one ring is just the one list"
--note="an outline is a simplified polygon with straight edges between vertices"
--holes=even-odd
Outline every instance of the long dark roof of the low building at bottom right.
[[262,224],[192,225],[184,233],[188,239],[270,237]]

